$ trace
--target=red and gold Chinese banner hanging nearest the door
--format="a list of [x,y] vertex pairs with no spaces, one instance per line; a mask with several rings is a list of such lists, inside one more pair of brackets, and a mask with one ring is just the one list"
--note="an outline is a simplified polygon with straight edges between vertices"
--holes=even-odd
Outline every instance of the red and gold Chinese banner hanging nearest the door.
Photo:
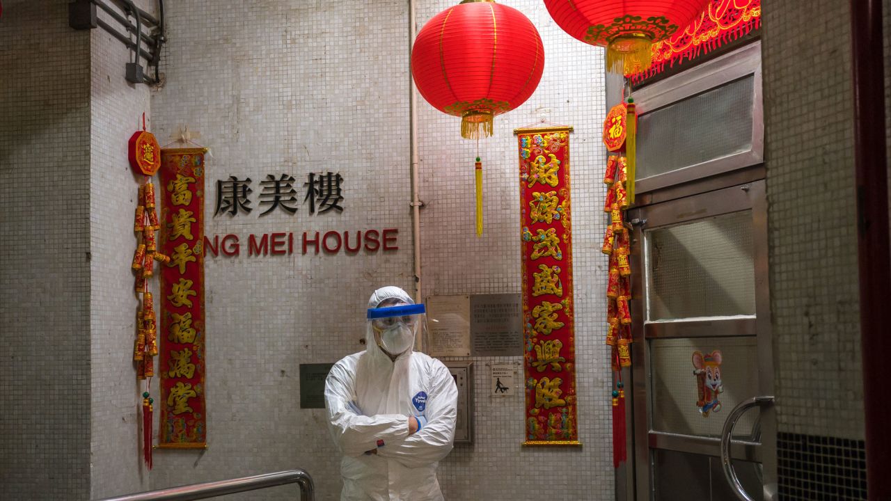
[[571,127],[518,129],[526,441],[578,445]]

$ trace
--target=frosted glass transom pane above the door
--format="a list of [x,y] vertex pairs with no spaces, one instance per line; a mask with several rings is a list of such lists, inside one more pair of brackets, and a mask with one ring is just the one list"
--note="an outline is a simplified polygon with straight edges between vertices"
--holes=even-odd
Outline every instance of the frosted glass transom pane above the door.
[[754,86],[749,75],[642,114],[638,179],[751,150]]

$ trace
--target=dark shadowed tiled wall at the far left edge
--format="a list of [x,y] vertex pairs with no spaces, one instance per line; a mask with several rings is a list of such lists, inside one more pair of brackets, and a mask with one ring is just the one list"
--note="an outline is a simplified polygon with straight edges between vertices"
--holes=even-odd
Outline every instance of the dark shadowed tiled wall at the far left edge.
[[85,499],[89,34],[65,2],[0,18],[0,497]]

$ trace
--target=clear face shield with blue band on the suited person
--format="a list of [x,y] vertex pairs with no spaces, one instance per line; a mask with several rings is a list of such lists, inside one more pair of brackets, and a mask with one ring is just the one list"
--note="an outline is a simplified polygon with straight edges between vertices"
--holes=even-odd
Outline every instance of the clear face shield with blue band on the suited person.
[[426,331],[426,309],[422,304],[399,300],[384,300],[380,305],[368,309],[368,328],[380,349],[395,359],[411,349],[417,336]]

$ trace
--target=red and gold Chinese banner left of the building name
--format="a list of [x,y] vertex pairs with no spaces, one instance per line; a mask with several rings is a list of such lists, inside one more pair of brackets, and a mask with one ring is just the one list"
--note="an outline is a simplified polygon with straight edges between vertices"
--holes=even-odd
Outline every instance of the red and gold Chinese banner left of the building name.
[[161,151],[160,448],[207,447],[204,399],[204,153]]

